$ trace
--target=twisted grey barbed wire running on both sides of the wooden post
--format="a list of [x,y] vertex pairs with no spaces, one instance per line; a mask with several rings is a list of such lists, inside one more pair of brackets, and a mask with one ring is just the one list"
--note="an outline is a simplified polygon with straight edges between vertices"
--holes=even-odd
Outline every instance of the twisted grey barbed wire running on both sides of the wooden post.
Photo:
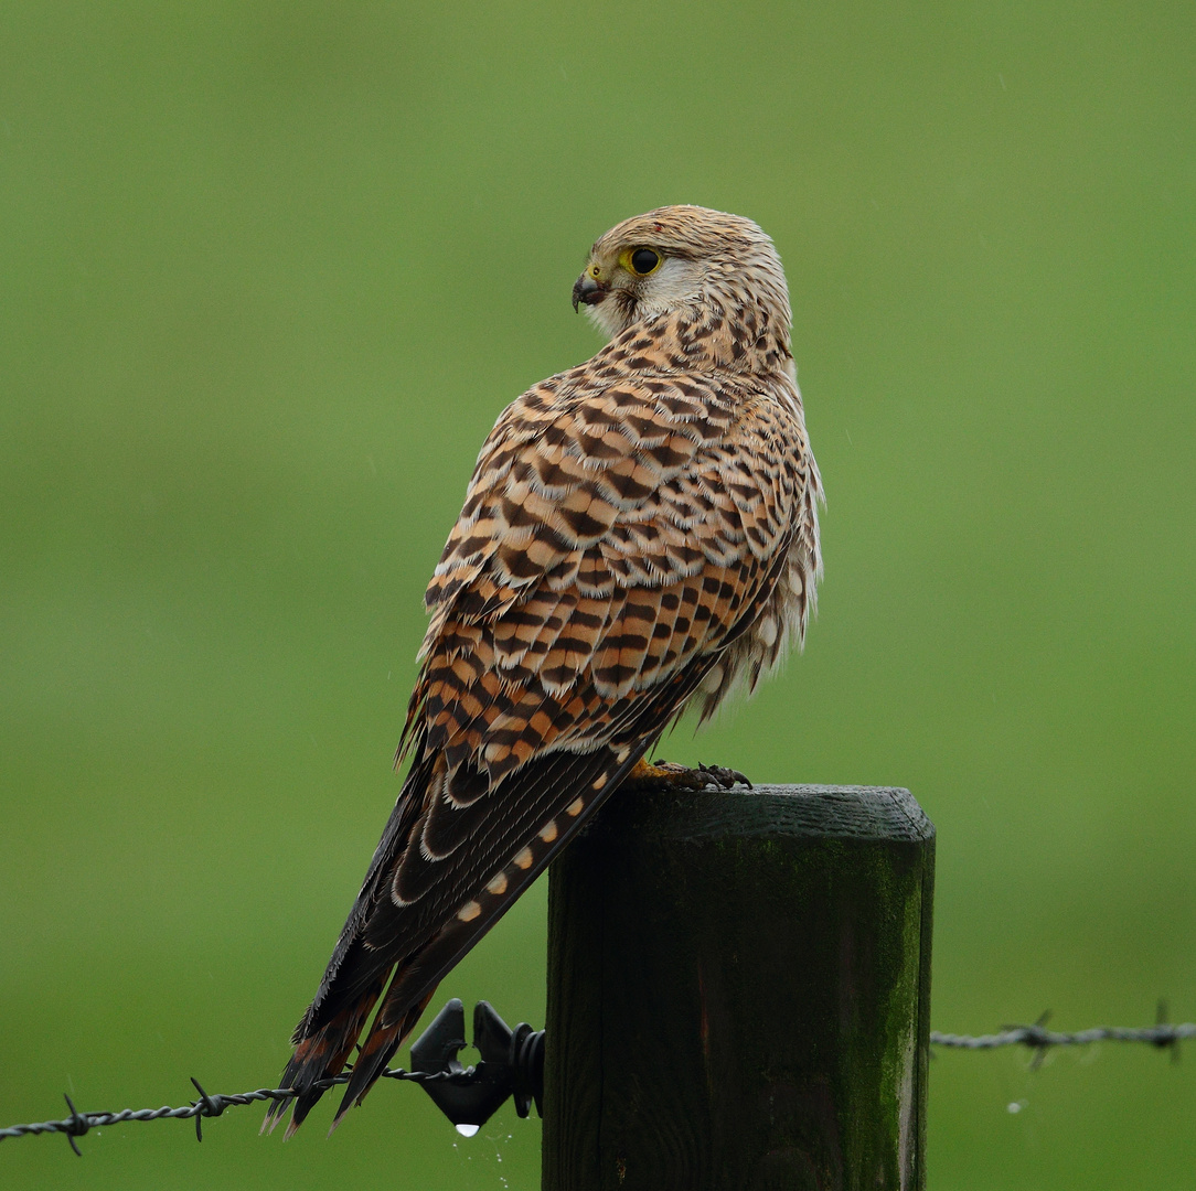
[[[1038,1067],[1049,1050],[1056,1046],[1090,1046],[1099,1042],[1146,1043],[1159,1050],[1170,1050],[1172,1059],[1179,1057],[1179,1043],[1196,1038],[1196,1022],[1170,1025],[1166,1019],[1166,1007],[1159,1006],[1159,1020],[1153,1026],[1096,1026],[1090,1030],[1061,1032],[1046,1028],[1050,1014],[1044,1013],[1032,1026],[1006,1026],[995,1034],[950,1034],[936,1030],[930,1031],[933,1046],[946,1046],[956,1050],[997,1050],[1003,1046],[1025,1046],[1035,1051],[1032,1067]],[[451,1071],[408,1071],[403,1068],[390,1068],[382,1077],[403,1080],[413,1083],[429,1083],[446,1080],[469,1082],[475,1068],[466,1067]],[[316,1087],[321,1091],[347,1083],[349,1074],[344,1073],[332,1079],[321,1080]],[[75,1144],[77,1137],[83,1137],[92,1129],[124,1124],[127,1120],[195,1120],[195,1137],[203,1141],[202,1120],[205,1117],[219,1117],[225,1108],[257,1104],[266,1100],[287,1100],[294,1095],[293,1088],[257,1088],[255,1092],[237,1092],[233,1094],[209,1095],[199,1080],[191,1077],[199,1099],[183,1107],[172,1108],[124,1108],[121,1112],[79,1112],[69,1097],[65,1097],[71,1116],[61,1120],[42,1120],[29,1125],[11,1125],[0,1129],[0,1141],[8,1137],[28,1137],[37,1134],[65,1134],[71,1148],[81,1155]]]

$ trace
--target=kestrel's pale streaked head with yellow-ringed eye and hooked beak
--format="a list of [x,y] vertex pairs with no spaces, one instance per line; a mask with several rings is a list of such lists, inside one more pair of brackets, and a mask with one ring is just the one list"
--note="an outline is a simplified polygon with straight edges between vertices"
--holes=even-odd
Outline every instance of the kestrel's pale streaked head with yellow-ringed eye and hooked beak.
[[706,207],[661,207],[617,224],[590,250],[573,307],[609,336],[712,301],[745,300],[789,329],[789,299],[773,242],[750,220]]

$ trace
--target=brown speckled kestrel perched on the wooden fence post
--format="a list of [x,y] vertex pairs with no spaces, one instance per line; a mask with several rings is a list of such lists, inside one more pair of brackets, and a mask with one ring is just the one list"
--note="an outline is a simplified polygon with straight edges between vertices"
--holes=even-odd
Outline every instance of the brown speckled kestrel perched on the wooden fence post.
[[593,244],[572,299],[608,342],[482,445],[425,596],[410,766],[263,1129],[292,1107],[289,1137],[352,1065],[335,1129],[612,792],[695,776],[643,759],[661,733],[750,692],[814,610],[823,487],[773,240],[661,207]]

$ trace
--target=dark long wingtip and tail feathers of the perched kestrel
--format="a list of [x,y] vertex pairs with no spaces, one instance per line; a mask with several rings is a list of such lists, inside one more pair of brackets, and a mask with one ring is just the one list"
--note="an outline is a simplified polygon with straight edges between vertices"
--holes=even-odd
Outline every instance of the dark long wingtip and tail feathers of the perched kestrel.
[[325,1081],[344,1069],[368,1025],[332,1126],[361,1103],[444,976],[618,788],[702,672],[690,667],[661,688],[622,739],[588,752],[535,756],[502,780],[501,789],[487,789],[481,774],[470,771],[472,762],[462,763],[458,788],[481,786],[484,793],[457,805],[425,801],[444,761],[429,757],[419,741],[324,979],[292,1039],[295,1050],[282,1079],[293,1095],[270,1106],[263,1129],[273,1129],[293,1104],[289,1137],[328,1089]]

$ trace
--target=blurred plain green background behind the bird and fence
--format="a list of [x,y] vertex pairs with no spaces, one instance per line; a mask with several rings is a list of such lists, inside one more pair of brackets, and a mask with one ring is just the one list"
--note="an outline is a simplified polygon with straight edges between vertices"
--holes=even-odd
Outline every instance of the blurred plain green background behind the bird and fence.
[[[1196,1018],[1194,50],[1178,0],[0,8],[0,1124],[276,1080],[477,447],[678,201],[776,240],[830,505],[805,656],[663,751],[915,793],[939,1028]],[[443,995],[539,1025],[544,915]],[[1191,1185],[1191,1063],[932,1080],[936,1191]],[[538,1186],[513,1111],[328,1116],[0,1184]]]

